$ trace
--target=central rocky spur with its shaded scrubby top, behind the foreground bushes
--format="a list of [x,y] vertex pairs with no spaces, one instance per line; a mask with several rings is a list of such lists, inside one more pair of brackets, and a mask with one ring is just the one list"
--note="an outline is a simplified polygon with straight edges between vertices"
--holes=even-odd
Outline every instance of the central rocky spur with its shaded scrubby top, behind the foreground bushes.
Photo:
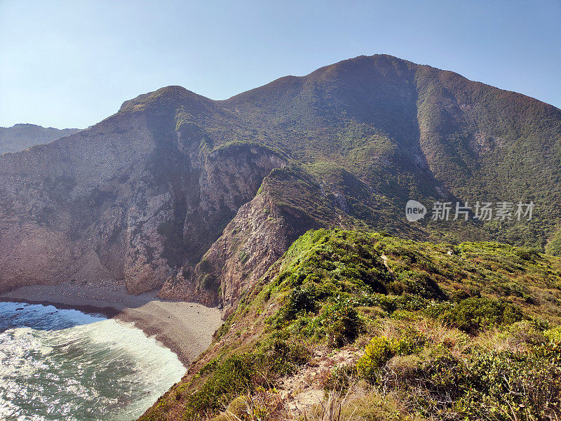
[[301,169],[276,168],[252,201],[239,208],[201,262],[182,267],[158,295],[224,305],[229,314],[304,232],[356,225],[346,207]]

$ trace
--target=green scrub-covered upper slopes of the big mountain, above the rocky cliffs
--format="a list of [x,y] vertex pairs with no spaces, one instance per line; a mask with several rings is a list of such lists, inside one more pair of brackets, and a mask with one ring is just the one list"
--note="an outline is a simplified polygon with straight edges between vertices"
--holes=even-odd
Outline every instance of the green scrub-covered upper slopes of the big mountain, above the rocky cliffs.
[[[287,200],[312,216],[330,199],[353,228],[544,250],[561,218],[561,110],[389,55],[344,60],[225,101],[168,86],[125,102],[120,113],[134,111],[147,111],[155,137],[168,132],[170,145],[179,138],[205,153],[234,144],[275,151],[299,167],[293,181],[314,187],[312,201],[291,192]],[[409,199],[429,210],[438,200],[536,207],[530,222],[412,225],[403,218]],[[319,216],[325,227],[340,226]]]

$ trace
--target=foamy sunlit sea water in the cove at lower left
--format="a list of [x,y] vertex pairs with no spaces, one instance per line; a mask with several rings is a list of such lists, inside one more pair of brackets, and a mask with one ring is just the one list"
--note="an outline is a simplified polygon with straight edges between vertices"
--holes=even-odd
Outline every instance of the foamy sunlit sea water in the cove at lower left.
[[130,323],[0,302],[0,420],[133,420],[184,373]]

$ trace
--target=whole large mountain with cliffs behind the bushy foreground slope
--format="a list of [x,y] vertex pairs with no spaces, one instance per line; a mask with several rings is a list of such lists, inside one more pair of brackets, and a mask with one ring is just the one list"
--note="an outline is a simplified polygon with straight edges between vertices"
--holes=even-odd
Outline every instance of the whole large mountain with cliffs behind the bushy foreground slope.
[[[168,86],[0,156],[0,290],[109,277],[232,311],[320,227],[555,252],[560,163],[560,109],[388,55],[223,101]],[[408,199],[535,209],[412,223]]]

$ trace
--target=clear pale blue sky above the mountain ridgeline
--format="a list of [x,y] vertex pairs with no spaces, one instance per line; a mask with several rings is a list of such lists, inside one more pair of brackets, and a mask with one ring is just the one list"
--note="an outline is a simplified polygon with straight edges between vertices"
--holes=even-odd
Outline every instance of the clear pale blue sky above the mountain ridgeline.
[[0,0],[0,126],[89,126],[181,85],[213,99],[387,53],[561,107],[561,0]]

